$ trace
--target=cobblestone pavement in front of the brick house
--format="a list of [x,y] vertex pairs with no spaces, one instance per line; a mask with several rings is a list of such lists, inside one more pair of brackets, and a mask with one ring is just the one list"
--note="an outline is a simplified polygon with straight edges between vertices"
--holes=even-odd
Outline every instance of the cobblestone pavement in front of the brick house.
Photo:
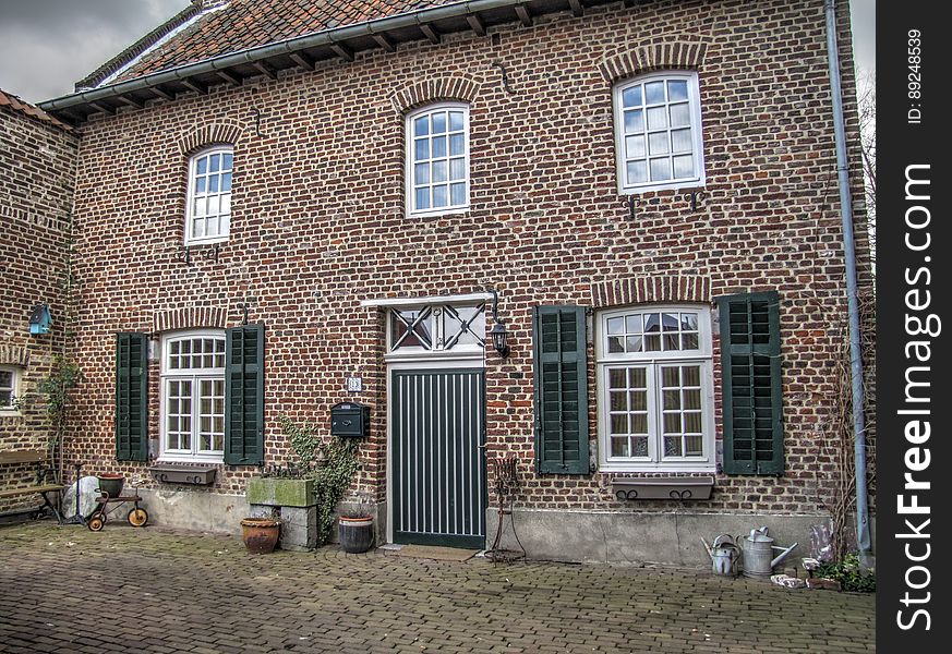
[[0,528],[0,652],[872,652],[873,596],[672,569]]

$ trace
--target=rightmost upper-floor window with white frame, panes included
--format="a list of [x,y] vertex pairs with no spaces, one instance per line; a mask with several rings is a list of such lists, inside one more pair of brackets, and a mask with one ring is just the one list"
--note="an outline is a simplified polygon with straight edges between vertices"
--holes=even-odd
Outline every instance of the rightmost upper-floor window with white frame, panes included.
[[698,75],[642,75],[614,92],[615,152],[622,193],[704,183]]

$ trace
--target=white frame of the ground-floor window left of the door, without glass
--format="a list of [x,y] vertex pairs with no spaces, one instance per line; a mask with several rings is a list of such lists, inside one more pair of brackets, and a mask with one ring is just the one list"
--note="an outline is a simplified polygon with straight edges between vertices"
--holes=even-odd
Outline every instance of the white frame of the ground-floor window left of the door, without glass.
[[[200,384],[202,380],[220,380],[222,392],[225,385],[225,366],[210,368],[171,368],[171,343],[190,339],[212,338],[225,341],[224,329],[193,329],[166,334],[161,339],[161,364],[159,377],[159,460],[190,461],[200,463],[222,463],[225,461],[225,436],[222,435],[220,450],[200,450],[201,400]],[[224,359],[224,355],[222,355]],[[170,449],[168,447],[168,387],[170,382],[190,380],[192,383],[192,447],[190,450]],[[228,401],[228,398],[225,398]],[[222,404],[224,409],[224,404]],[[222,416],[222,425],[224,425]]]

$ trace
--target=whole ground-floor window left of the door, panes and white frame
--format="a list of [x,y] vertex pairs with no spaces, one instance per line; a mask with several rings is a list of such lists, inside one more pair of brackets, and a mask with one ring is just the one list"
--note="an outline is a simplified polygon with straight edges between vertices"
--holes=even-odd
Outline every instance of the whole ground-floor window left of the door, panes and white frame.
[[225,337],[167,337],[162,348],[162,456],[220,460],[225,453]]

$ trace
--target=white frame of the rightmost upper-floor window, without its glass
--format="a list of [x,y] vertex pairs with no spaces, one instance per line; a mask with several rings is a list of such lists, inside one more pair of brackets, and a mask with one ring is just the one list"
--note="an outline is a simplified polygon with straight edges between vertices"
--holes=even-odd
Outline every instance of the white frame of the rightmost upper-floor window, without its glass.
[[[628,172],[627,172],[627,162],[628,158],[626,157],[626,147],[625,147],[625,118],[624,118],[624,107],[622,106],[622,95],[628,88],[632,86],[643,85],[649,82],[658,82],[664,80],[665,82],[668,80],[677,80],[677,81],[686,81],[688,87],[688,105],[690,111],[690,128],[691,128],[691,137],[692,137],[692,155],[694,155],[694,166],[695,166],[695,174],[690,178],[683,178],[677,180],[663,180],[658,182],[638,182],[638,183],[628,183]],[[666,86],[666,85],[665,85]],[[647,98],[643,98],[647,99]],[[701,100],[700,100],[700,88],[698,86],[698,74],[695,71],[659,71],[654,73],[650,73],[647,75],[639,75],[637,77],[632,77],[630,80],[625,80],[624,82],[619,82],[615,85],[612,92],[612,105],[614,109],[614,120],[615,120],[615,171],[618,181],[618,193],[622,195],[634,195],[638,193],[644,193],[649,191],[665,191],[665,190],[674,190],[674,189],[701,189],[706,183],[706,173],[704,173],[704,145],[703,145],[703,128],[701,124]],[[665,108],[668,107],[668,102],[665,102]],[[644,117],[644,120],[648,120],[648,117]],[[667,131],[671,132],[670,120]],[[644,125],[644,138],[646,138],[646,166],[650,168],[650,157],[647,154],[648,148],[648,129],[647,124]],[[672,171],[673,173],[674,171]]]

